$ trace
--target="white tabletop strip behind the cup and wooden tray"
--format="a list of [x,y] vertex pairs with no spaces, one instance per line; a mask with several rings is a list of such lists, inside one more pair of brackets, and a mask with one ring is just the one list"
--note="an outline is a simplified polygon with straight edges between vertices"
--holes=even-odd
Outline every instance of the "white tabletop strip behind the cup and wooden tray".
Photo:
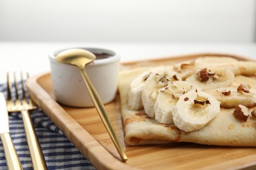
[[6,81],[7,71],[24,71],[30,75],[50,71],[48,54],[60,48],[102,47],[116,50],[121,62],[146,58],[180,56],[201,52],[236,54],[256,59],[256,43],[96,43],[96,42],[0,42],[0,83]]

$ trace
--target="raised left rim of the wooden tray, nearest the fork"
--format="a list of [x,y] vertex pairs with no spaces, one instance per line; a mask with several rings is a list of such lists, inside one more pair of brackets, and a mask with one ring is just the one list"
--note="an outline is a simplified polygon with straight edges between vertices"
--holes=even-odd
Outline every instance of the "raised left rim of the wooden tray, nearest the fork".
[[[40,84],[37,83],[37,79],[49,74],[42,73],[28,78],[26,85],[32,100],[53,120],[54,124],[64,132],[66,137],[70,139],[96,169],[133,169],[133,167],[121,162],[120,158],[110,154],[102,144],[98,143],[41,88]],[[58,114],[54,114],[54,112],[58,112]],[[77,131],[80,131],[80,133],[77,133]]]

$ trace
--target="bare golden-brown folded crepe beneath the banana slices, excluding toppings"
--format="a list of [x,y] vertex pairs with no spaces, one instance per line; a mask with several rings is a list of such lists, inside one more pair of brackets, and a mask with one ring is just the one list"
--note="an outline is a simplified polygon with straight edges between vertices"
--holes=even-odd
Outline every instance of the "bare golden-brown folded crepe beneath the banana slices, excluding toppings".
[[[143,108],[129,109],[128,95],[131,82],[150,69],[137,68],[119,74],[118,89],[126,144],[137,146],[188,142],[219,146],[256,146],[256,117],[250,115],[246,122],[241,122],[234,117],[235,108],[221,108],[219,114],[209,124],[202,129],[190,132],[182,131],[175,124],[161,124],[155,118],[145,114]],[[249,77],[239,75],[234,81],[238,84],[248,80],[247,78]],[[252,78],[251,80],[255,81]],[[249,108],[249,110],[254,109],[256,107]]]

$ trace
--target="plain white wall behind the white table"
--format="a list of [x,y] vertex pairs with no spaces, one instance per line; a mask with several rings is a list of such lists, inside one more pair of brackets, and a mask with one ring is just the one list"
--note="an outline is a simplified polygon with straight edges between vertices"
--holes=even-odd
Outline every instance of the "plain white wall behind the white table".
[[0,0],[0,41],[253,42],[254,0]]

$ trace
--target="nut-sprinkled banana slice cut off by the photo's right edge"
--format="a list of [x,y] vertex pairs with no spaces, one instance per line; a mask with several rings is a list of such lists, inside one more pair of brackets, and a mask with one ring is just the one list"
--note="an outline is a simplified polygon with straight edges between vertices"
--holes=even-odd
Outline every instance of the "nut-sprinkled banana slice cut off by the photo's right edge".
[[253,107],[256,105],[256,92],[253,89],[245,88],[244,91],[238,92],[238,88],[227,87],[205,90],[205,92],[220,101],[221,107],[224,108],[238,107],[238,105]]

